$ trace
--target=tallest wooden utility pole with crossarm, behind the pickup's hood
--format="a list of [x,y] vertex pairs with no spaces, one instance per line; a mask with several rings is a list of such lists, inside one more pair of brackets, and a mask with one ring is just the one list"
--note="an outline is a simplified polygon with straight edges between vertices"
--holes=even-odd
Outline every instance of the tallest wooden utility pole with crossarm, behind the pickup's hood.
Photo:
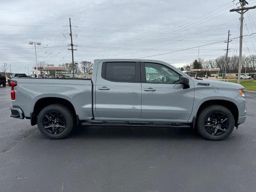
[[230,12],[238,12],[240,17],[240,46],[239,46],[239,66],[238,66],[238,79],[237,83],[240,84],[241,78],[241,68],[242,68],[242,43],[243,43],[243,20],[244,20],[244,13],[249,9],[255,9],[256,6],[253,7],[244,7],[248,2],[246,0],[239,0],[241,8],[231,9]]

